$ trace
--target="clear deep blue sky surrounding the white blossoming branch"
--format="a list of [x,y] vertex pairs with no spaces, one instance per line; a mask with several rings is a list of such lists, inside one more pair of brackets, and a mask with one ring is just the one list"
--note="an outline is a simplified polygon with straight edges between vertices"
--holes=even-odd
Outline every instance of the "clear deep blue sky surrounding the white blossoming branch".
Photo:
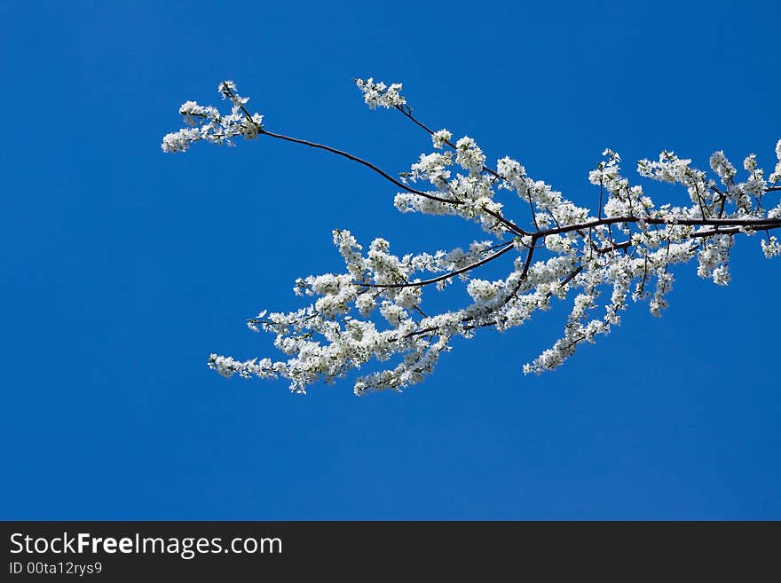
[[332,228],[399,252],[481,232],[399,215],[392,186],[327,154],[159,146],[180,103],[216,102],[228,78],[270,130],[399,172],[430,146],[362,105],[351,77],[374,75],[582,204],[605,146],[770,168],[779,19],[769,1],[0,1],[0,514],[781,518],[781,264],[758,240],[738,242],[730,287],[682,266],[662,319],[633,306],[553,374],[521,366],[562,311],[457,343],[401,395],[300,397],[206,358],[273,354],[244,319],[340,269]]

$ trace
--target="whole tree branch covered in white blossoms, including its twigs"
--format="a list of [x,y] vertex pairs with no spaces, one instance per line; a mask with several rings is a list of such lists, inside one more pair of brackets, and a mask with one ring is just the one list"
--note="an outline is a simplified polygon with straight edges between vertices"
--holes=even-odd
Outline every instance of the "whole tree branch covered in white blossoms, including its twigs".
[[[399,109],[426,128],[401,107],[406,100],[400,84],[371,78],[356,83],[369,107]],[[264,132],[262,117],[248,114],[247,99],[233,83],[221,83],[219,91],[233,103],[232,113],[185,102],[179,112],[189,127],[163,138],[164,151],[181,152],[198,140],[222,144],[239,135],[281,137]],[[770,233],[781,228],[781,203],[770,198],[781,191],[781,140],[776,168],[767,179],[754,154],[744,161],[745,177],[723,152],[710,157],[712,176],[668,151],[658,160],[638,162],[641,177],[685,189],[688,197],[680,205],[658,205],[643,185],[623,176],[619,154],[606,149],[604,160],[588,175],[598,187],[598,203],[586,209],[529,177],[509,157],[487,166],[473,138],[453,143],[448,130],[429,133],[435,151],[420,154],[399,180],[359,162],[400,188],[394,202],[402,212],[461,217],[477,222],[489,237],[473,240],[468,248],[397,255],[387,240],[372,240],[364,248],[351,232],[335,230],[344,271],[296,280],[294,292],[309,302],[304,307],[261,311],[248,320],[251,330],[274,335],[286,358],[241,361],[213,354],[209,366],[225,376],[283,377],[299,392],[312,382],[334,382],[376,366],[354,382],[356,394],[402,390],[433,370],[454,337],[469,338],[485,327],[520,326],[555,299],[572,297],[559,339],[524,366],[525,373],[540,374],[561,365],[582,343],[609,334],[630,301],[648,302],[651,313],[659,315],[667,307],[676,264],[696,262],[700,277],[726,285],[735,238],[754,232],[764,233],[765,256],[781,256],[781,244]],[[328,146],[293,141],[357,160]],[[506,214],[509,203],[524,209],[524,220]],[[483,265],[502,261],[507,264],[504,277],[473,277]],[[469,300],[458,309],[429,313],[424,292],[456,282]]]

